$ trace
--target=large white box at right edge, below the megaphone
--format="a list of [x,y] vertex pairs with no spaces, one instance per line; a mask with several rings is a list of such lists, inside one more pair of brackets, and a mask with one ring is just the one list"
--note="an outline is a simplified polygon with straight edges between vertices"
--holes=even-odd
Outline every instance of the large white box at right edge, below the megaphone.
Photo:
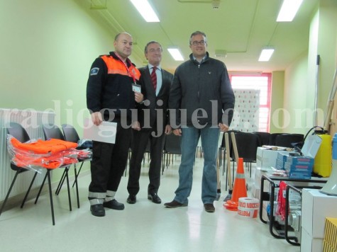
[[319,189],[304,188],[302,190],[302,229],[305,229],[313,238],[324,239],[326,217],[337,217],[337,197],[320,193]]

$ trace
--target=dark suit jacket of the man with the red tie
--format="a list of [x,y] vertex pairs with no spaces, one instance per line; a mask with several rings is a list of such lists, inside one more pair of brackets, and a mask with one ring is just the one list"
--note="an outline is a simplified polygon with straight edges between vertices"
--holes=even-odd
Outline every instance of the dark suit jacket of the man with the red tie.
[[[173,74],[162,69],[162,86],[158,96],[155,96],[148,66],[139,68],[139,71],[139,81],[144,96],[144,103],[138,106],[138,121],[140,122],[140,127],[142,130],[154,130],[157,128],[157,123],[162,122],[158,127],[164,129],[165,125],[170,122],[167,107]],[[144,110],[148,111],[144,112]],[[148,125],[150,125],[150,128],[148,128]]]

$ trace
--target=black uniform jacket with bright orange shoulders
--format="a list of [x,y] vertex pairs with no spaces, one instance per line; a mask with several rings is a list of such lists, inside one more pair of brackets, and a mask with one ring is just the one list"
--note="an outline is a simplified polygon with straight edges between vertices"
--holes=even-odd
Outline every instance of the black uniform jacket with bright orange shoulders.
[[128,70],[114,52],[95,59],[87,83],[87,108],[90,113],[104,110],[104,115],[109,115],[108,110],[111,109],[116,118],[120,118],[121,110],[126,110],[128,118],[131,117],[131,109],[136,108],[132,75],[138,82],[140,72],[129,59],[127,64]]

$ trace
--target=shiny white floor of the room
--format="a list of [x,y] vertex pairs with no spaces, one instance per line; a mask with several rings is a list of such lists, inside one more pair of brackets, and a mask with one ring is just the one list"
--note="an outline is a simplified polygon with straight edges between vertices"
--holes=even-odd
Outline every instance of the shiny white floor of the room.
[[[51,223],[48,195],[42,195],[37,205],[33,200],[25,207],[13,207],[0,217],[1,251],[300,251],[283,239],[275,239],[267,224],[260,219],[246,219],[223,208],[223,197],[228,193],[221,187],[219,201],[214,202],[215,213],[204,211],[201,202],[202,159],[194,168],[194,183],[188,207],[167,209],[147,199],[148,164],[140,178],[137,203],[128,205],[123,177],[116,199],[125,203],[123,211],[106,210],[105,217],[94,217],[89,212],[87,188],[90,177],[79,178],[81,207],[75,204],[72,193],[72,212],[67,205],[67,190],[54,196],[55,226]],[[162,203],[174,197],[177,188],[179,159],[165,169],[158,195]],[[221,172],[222,174],[222,172]],[[221,181],[224,181],[221,175]],[[251,180],[253,181],[253,180]],[[250,183],[250,179],[247,179]],[[223,182],[224,185],[224,182]]]

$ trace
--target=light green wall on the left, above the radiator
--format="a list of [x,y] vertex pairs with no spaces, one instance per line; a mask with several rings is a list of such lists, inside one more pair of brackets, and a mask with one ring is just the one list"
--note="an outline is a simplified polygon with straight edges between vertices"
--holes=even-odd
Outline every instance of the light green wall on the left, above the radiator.
[[53,110],[55,123],[74,125],[79,136],[89,115],[89,69],[96,57],[114,50],[117,33],[97,23],[82,2],[0,2],[0,108]]

